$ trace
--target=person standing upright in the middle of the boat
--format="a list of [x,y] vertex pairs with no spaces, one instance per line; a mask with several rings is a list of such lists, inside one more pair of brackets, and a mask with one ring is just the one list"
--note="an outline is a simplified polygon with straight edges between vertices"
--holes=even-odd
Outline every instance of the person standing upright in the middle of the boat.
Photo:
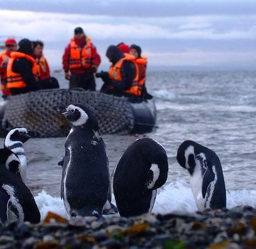
[[[74,29],[74,37],[65,48],[62,56],[65,78],[69,80],[69,88],[81,87],[95,91],[94,73],[101,63],[101,57],[81,27]],[[71,75],[69,74],[69,71]]]

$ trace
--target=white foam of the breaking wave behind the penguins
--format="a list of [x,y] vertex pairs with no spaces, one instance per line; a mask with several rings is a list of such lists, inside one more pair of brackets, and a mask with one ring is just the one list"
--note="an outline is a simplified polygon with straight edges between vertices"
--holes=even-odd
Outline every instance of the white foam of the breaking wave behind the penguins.
[[[115,204],[114,195],[112,197]],[[60,197],[53,197],[42,191],[35,197],[35,201],[41,213],[41,220],[45,218],[48,211],[65,218],[69,217]],[[230,209],[238,205],[256,208],[256,189],[227,190],[227,208]],[[181,180],[158,190],[152,212],[165,214],[173,211],[195,212],[196,210],[190,185]]]

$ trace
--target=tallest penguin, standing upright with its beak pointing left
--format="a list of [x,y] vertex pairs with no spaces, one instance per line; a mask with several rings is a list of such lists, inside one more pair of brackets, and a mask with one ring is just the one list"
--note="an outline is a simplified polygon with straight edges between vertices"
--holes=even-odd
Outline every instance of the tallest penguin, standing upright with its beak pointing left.
[[98,121],[88,108],[78,104],[54,109],[73,125],[65,142],[61,178],[61,198],[67,213],[99,217],[104,204],[108,212],[114,205],[108,199],[111,196],[108,157],[98,132]]

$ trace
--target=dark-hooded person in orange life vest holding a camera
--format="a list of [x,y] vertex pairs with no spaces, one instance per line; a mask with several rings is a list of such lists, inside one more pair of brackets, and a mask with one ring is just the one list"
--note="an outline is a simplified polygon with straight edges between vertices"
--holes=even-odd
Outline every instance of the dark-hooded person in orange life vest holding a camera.
[[114,45],[108,47],[106,56],[112,62],[112,65],[108,75],[106,74],[107,72],[102,73],[104,74],[104,78],[102,78],[104,84],[101,87],[101,92],[118,96],[134,96],[130,89],[132,89],[136,78],[135,64],[126,60],[124,54]]

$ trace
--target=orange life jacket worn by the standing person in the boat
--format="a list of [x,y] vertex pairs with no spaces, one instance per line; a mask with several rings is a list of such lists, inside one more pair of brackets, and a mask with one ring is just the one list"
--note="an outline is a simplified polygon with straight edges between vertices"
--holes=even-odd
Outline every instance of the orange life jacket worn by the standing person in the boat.
[[84,47],[80,48],[76,43],[74,37],[70,39],[70,56],[69,56],[69,68],[91,68],[92,67],[92,42],[90,38],[87,38],[87,42]]

